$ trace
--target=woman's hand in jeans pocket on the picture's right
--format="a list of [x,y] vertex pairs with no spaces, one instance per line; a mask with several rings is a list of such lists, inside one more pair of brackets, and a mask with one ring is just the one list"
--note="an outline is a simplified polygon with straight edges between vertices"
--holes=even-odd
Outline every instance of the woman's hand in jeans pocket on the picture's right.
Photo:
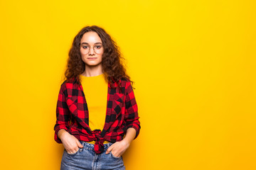
[[109,148],[107,148],[106,154],[112,152],[114,157],[121,157],[122,154],[129,147],[129,142],[127,140],[121,140],[119,142],[114,142]]

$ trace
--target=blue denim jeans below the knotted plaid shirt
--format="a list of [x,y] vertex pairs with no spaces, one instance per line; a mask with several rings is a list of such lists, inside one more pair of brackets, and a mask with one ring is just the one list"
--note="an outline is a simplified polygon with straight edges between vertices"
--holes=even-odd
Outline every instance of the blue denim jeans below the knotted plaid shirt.
[[125,170],[123,158],[114,157],[112,152],[106,154],[107,148],[113,143],[104,144],[104,151],[96,154],[94,145],[80,140],[83,148],[79,148],[78,152],[68,154],[64,149],[61,159],[60,170],[97,170],[97,169],[113,169]]

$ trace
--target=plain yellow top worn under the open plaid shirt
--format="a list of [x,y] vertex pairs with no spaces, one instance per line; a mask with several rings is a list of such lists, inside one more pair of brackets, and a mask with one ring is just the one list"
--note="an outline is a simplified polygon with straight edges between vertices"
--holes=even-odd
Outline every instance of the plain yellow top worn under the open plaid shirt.
[[[107,81],[104,74],[95,77],[80,75],[80,80],[89,112],[89,127],[91,130],[103,130],[107,114]],[[95,144],[95,141],[88,143]]]

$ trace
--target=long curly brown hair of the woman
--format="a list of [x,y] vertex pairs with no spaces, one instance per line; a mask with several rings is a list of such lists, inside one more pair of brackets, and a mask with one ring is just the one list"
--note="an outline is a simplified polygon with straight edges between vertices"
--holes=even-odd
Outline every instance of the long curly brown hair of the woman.
[[[121,88],[121,79],[127,79],[132,84],[134,81],[126,73],[123,66],[124,57],[117,46],[117,43],[112,40],[109,34],[103,28],[98,26],[86,26],[82,28],[73,40],[72,47],[68,53],[68,63],[65,69],[65,80],[78,79],[80,81],[80,74],[85,72],[85,62],[82,61],[80,54],[80,41],[82,35],[87,32],[94,31],[102,40],[104,52],[102,54],[102,73],[106,80],[110,81],[110,85],[114,86],[114,82]],[[135,89],[134,87],[132,87]]]

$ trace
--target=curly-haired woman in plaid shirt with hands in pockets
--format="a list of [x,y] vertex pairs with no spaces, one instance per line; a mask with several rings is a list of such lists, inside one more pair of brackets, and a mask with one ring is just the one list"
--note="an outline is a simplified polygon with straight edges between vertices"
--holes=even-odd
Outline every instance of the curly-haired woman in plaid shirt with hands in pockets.
[[121,59],[104,29],[87,26],[75,36],[56,108],[60,169],[125,169],[122,154],[141,127]]

